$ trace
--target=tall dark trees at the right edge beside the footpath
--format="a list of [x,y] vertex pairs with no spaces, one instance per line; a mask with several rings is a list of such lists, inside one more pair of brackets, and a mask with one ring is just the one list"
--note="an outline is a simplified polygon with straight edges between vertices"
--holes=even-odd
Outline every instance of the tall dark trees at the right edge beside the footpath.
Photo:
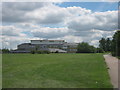
[[110,51],[113,56],[120,56],[120,31],[115,32],[111,40],[102,38],[99,42],[100,48],[105,52]]

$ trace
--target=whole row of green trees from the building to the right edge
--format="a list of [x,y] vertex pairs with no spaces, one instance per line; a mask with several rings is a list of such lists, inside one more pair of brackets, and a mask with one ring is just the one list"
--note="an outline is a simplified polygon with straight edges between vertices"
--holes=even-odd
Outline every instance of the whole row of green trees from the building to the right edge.
[[116,31],[112,39],[101,38],[99,47],[89,45],[86,42],[79,43],[77,53],[103,53],[111,52],[113,56],[120,57],[120,31]]

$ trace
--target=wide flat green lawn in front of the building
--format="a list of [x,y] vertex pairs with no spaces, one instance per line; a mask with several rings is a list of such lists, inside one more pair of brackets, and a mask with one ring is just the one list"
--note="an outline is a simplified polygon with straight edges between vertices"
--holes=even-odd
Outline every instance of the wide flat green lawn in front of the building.
[[3,88],[111,88],[102,54],[3,54]]

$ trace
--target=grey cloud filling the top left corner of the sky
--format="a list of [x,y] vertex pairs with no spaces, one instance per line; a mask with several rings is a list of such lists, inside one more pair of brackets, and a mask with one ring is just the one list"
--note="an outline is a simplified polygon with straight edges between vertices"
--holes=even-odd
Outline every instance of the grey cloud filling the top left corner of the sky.
[[30,18],[25,17],[27,12],[37,8],[50,5],[48,2],[4,2],[2,3],[2,21],[3,22],[29,22]]

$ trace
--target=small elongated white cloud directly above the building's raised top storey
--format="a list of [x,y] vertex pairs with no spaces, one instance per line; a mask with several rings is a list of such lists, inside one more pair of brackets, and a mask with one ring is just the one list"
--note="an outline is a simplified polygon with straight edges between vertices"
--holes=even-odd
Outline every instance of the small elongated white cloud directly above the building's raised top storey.
[[45,39],[64,37],[69,34],[68,28],[38,28],[31,31],[34,37]]

